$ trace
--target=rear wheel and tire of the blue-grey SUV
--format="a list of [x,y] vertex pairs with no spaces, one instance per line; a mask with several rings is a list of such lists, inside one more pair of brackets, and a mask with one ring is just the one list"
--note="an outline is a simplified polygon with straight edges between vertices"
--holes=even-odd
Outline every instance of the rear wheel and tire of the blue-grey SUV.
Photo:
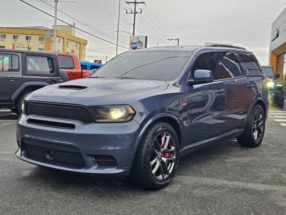
[[244,132],[237,137],[237,142],[242,146],[257,147],[263,140],[264,132],[264,111],[260,105],[255,105],[251,110],[251,114],[249,116]]

